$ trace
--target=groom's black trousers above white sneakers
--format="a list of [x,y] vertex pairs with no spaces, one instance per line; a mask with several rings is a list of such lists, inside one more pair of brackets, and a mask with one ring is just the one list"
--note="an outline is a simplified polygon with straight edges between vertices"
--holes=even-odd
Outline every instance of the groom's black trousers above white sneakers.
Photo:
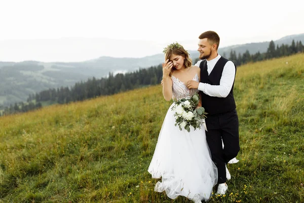
[[236,110],[218,115],[208,116],[207,114],[205,122],[208,130],[206,131],[207,143],[218,172],[217,183],[225,183],[225,164],[236,157],[240,151],[238,114]]

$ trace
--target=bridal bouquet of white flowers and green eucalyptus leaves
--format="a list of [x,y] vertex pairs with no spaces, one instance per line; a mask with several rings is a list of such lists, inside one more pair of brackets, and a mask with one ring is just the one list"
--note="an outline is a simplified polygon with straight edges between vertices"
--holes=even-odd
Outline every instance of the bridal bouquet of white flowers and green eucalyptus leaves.
[[197,108],[199,104],[199,94],[194,94],[191,98],[182,98],[179,100],[173,100],[173,110],[175,117],[175,126],[178,125],[179,129],[184,128],[190,132],[190,126],[201,129],[202,123],[206,118],[206,112],[203,107]]

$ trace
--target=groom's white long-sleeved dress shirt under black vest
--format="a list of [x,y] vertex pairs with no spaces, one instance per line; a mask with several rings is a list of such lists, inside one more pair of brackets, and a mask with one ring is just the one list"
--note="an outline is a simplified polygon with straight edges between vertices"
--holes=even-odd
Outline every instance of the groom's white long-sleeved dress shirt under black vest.
[[[220,57],[221,56],[218,54],[212,60],[207,60],[208,75],[210,75],[211,71],[213,70],[216,62]],[[202,61],[199,60],[195,65],[200,66],[201,62]],[[209,96],[226,97],[231,91],[235,79],[235,75],[236,75],[236,69],[234,63],[232,61],[227,61],[226,64],[224,65],[224,69],[219,81],[219,85],[210,85],[207,83],[200,82],[198,90],[204,92]]]

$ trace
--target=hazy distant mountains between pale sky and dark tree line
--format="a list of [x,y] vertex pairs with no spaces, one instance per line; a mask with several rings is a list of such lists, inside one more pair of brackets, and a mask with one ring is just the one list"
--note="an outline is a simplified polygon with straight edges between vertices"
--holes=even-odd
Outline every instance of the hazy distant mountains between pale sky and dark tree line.
[[[288,44],[292,40],[304,43],[304,33],[286,36],[275,41],[276,45]],[[219,48],[219,53],[229,57],[231,50],[251,54],[265,52],[270,42],[250,43]],[[188,51],[193,59],[198,58],[198,51]],[[81,80],[91,77],[106,77],[109,72],[126,73],[159,65],[164,54],[156,54],[142,58],[99,57],[84,62],[1,62],[0,61],[0,107],[19,101],[25,101],[29,94],[48,88],[72,86]]]

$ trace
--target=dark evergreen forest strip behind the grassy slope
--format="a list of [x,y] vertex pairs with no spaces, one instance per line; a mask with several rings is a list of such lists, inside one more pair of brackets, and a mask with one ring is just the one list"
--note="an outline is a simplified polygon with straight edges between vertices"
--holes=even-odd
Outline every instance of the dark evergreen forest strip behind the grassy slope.
[[[232,50],[229,56],[224,57],[229,58],[236,66],[239,66],[248,62],[289,56],[301,52],[304,52],[301,41],[295,42],[293,40],[290,46],[284,44],[276,46],[274,41],[271,41],[267,52],[260,53],[258,51],[255,54],[250,54],[247,50],[245,53],[237,55]],[[194,64],[198,60],[198,58],[194,59]],[[162,64],[159,64],[126,74],[113,75],[113,73],[109,73],[107,78],[96,79],[93,77],[85,82],[75,83],[71,87],[50,88],[30,94],[26,102],[5,107],[4,111],[0,112],[0,116],[39,109],[44,106],[43,104],[67,104],[72,101],[81,101],[101,95],[111,95],[148,85],[160,84],[162,75]]]

